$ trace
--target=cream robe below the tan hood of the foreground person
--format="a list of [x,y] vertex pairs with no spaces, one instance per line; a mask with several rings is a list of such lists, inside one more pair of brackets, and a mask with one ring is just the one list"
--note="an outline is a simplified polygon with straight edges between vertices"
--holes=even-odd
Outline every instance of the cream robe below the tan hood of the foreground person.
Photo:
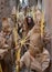
[[25,64],[28,69],[30,68],[37,72],[44,72],[44,70],[49,66],[49,63],[50,54],[45,49],[43,49],[43,52],[35,58],[30,55],[30,52],[27,51],[20,60],[20,66],[23,66],[23,64]]

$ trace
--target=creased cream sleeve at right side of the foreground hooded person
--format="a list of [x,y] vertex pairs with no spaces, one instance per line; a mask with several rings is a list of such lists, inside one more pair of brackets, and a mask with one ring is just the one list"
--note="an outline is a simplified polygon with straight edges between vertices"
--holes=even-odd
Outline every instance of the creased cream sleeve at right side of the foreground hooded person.
[[44,71],[50,64],[50,54],[49,52],[45,50],[43,52],[43,58],[42,58],[42,71]]

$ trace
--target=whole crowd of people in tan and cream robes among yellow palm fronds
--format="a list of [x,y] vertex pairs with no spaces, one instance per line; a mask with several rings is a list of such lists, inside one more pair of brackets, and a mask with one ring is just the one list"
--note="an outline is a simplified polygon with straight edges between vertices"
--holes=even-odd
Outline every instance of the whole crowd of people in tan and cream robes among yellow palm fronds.
[[[19,61],[20,72],[45,72],[50,65],[50,53],[45,44],[50,42],[50,34],[44,31],[41,37],[42,12],[35,9],[34,20],[31,16],[21,16],[18,21],[15,14],[11,18],[2,18],[0,32],[0,70],[2,72],[15,72],[15,51],[21,49]],[[18,45],[14,43],[13,27],[18,33]],[[21,47],[21,40],[25,42]]]

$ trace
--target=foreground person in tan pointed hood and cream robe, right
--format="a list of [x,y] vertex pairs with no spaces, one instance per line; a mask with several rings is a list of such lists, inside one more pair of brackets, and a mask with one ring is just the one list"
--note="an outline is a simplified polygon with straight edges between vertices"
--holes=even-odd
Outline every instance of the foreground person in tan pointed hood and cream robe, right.
[[30,37],[29,50],[20,60],[20,68],[25,65],[25,72],[44,72],[50,63],[50,54],[42,45],[40,33]]

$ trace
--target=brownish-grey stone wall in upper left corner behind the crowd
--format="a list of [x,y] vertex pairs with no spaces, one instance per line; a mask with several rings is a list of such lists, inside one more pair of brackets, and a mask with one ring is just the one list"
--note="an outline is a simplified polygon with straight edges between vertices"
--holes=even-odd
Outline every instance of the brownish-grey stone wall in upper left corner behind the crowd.
[[15,6],[15,0],[0,0],[0,30],[1,19],[8,18],[11,14],[12,8]]

